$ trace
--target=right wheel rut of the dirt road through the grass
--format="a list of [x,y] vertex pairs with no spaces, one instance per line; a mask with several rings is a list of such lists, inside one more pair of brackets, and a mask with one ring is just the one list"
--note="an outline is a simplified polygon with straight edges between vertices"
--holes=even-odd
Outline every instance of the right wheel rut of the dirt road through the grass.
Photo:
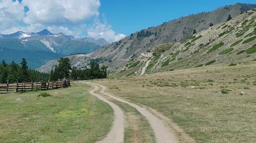
[[[109,96],[109,97],[111,97],[115,100],[118,100],[118,101],[123,102],[123,103],[127,103],[128,105],[136,108],[148,120],[149,124],[153,128],[157,143],[175,143],[174,135],[167,129],[164,122],[161,119],[154,116],[146,108],[140,107],[140,106],[138,106],[134,103],[128,102],[128,101],[126,101],[124,99],[121,99],[119,97],[116,97],[116,96],[109,95],[109,94],[105,93],[104,92],[105,89],[106,89],[105,86],[90,83],[90,82],[86,82],[86,83],[89,84],[89,85],[93,85],[93,86],[97,86],[97,87],[101,88],[101,90],[99,91],[101,94],[107,95],[107,96]],[[113,142],[110,142],[110,143],[113,143]]]

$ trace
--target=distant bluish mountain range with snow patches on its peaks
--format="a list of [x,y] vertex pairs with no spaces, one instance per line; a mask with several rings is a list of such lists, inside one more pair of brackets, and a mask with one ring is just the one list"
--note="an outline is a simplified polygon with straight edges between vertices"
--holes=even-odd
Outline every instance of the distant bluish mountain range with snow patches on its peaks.
[[49,60],[75,54],[89,53],[107,45],[104,39],[75,39],[64,33],[53,34],[44,29],[40,32],[0,34],[0,59],[19,63],[24,57],[30,68],[38,68]]

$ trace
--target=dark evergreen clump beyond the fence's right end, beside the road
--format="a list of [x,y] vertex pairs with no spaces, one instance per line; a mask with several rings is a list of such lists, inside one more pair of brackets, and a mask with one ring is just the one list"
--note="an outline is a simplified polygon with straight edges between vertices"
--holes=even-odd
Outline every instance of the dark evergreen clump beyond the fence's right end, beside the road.
[[90,79],[102,79],[107,77],[107,67],[99,66],[95,60],[91,60],[90,68],[76,69],[71,68],[68,58],[60,58],[59,65],[55,69],[51,70],[50,80],[90,80]]

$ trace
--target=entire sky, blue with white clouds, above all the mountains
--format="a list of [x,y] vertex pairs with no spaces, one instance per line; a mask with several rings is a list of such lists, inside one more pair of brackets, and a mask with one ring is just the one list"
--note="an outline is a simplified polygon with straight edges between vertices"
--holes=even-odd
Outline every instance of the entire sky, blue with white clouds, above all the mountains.
[[[0,0],[0,33],[48,29],[118,41],[141,29],[255,0]],[[24,8],[25,7],[25,8]]]

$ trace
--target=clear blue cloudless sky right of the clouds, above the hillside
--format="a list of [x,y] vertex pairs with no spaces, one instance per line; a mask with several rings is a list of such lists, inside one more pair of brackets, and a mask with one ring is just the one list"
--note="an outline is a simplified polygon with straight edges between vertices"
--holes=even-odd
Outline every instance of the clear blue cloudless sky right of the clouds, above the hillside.
[[237,2],[256,3],[256,0],[101,0],[100,12],[105,13],[117,33],[129,35],[181,16]]

